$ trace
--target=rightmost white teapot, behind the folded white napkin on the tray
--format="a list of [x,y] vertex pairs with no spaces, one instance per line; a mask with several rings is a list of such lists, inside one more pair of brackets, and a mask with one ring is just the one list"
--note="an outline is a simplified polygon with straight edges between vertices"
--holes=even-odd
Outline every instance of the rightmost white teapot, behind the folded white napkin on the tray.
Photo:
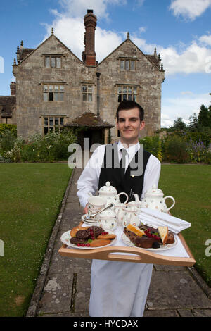
[[[167,208],[165,204],[165,200],[168,198],[173,200],[173,204],[169,208]],[[167,213],[172,207],[174,207],[174,204],[175,200],[173,196],[165,196],[164,198],[162,190],[158,189],[156,185],[153,185],[151,189],[148,189],[148,191],[145,192],[145,196],[141,201],[141,208],[151,208]]]

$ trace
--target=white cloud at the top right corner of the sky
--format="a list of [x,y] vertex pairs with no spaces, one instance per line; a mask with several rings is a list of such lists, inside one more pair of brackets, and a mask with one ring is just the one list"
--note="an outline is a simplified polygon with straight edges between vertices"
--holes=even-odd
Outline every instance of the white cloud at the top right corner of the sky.
[[195,20],[211,6],[211,0],[173,0],[170,10],[174,16],[183,16],[188,20]]

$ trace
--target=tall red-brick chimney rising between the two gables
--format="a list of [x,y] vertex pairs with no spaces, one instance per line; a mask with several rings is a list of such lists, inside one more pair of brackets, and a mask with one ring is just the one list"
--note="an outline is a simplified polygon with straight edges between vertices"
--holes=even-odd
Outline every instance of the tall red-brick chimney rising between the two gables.
[[96,65],[96,53],[94,51],[94,37],[96,27],[96,15],[92,9],[87,10],[87,15],[84,16],[84,45],[85,49],[82,53],[82,60],[86,65]]

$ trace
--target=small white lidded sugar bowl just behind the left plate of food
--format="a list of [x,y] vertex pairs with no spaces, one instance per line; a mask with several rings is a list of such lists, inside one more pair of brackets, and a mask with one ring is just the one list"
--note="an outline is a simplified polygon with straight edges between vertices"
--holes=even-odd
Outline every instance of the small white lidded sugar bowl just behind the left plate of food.
[[115,211],[106,209],[96,216],[97,226],[103,227],[104,230],[113,231],[117,228],[117,214]]

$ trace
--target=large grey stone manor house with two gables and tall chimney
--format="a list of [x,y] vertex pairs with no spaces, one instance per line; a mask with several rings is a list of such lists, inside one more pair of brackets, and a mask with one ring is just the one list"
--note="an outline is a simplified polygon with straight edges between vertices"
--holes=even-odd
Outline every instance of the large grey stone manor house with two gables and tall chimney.
[[165,80],[160,54],[148,55],[130,40],[122,42],[100,63],[96,61],[96,15],[84,16],[82,60],[56,35],[36,49],[21,42],[13,63],[11,96],[0,96],[0,123],[17,124],[18,136],[76,127],[90,143],[118,139],[115,113],[120,101],[137,101],[145,110],[142,136],[160,129],[161,84]]

